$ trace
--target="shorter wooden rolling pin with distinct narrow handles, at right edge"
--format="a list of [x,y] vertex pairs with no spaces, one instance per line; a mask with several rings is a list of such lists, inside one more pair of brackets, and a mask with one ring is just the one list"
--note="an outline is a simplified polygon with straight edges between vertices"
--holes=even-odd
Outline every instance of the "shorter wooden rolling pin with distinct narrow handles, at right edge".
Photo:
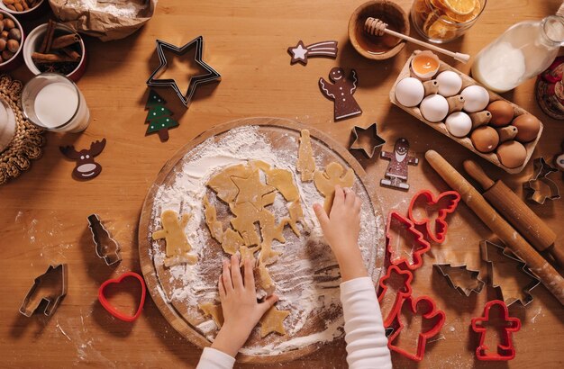
[[523,200],[501,180],[494,182],[489,178],[475,161],[466,160],[464,170],[482,186],[487,202],[496,208],[496,211],[499,211],[534,248],[539,252],[549,252],[560,266],[564,266],[564,251],[554,245],[556,233]]

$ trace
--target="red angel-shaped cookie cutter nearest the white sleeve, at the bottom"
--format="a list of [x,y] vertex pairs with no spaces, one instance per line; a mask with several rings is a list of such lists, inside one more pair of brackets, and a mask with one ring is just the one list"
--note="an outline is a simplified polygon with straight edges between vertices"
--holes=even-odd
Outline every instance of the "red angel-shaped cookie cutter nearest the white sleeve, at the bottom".
[[435,302],[433,302],[432,299],[428,296],[421,296],[415,299],[413,297],[408,297],[404,300],[404,304],[405,303],[408,304],[407,307],[414,314],[418,311],[418,307],[423,305],[423,309],[426,308],[426,310],[422,314],[423,319],[436,319],[436,322],[431,329],[427,329],[426,331],[419,333],[419,337],[417,339],[417,352],[413,354],[405,351],[401,347],[396,347],[394,345],[394,341],[399,336],[401,331],[405,328],[404,323],[402,323],[401,320],[401,311],[398,311],[398,315],[396,317],[397,328],[394,330],[394,333],[392,333],[388,338],[387,347],[390,350],[395,351],[396,353],[409,359],[412,359],[414,361],[422,361],[423,356],[425,355],[425,346],[427,345],[427,340],[436,336],[441,331],[444,320],[446,319],[446,315],[444,314],[444,311],[437,310]]

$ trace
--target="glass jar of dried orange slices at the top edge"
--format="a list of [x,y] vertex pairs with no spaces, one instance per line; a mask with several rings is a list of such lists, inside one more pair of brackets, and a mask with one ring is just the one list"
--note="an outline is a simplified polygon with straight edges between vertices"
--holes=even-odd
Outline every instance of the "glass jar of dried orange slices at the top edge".
[[487,0],[414,0],[411,17],[415,29],[431,42],[461,36],[478,20]]

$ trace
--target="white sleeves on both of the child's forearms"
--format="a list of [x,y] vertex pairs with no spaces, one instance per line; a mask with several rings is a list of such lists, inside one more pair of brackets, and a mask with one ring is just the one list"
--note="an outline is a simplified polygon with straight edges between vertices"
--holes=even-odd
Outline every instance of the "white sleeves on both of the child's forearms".
[[[351,369],[387,369],[392,367],[382,322],[380,305],[369,277],[341,284],[341,303],[345,319],[347,363]],[[205,347],[196,369],[231,369],[235,358]]]

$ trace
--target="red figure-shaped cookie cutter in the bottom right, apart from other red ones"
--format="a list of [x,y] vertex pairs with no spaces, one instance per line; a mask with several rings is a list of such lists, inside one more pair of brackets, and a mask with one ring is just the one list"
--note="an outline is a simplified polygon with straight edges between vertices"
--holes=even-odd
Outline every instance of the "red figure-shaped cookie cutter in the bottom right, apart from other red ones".
[[[488,353],[489,347],[484,343],[486,341],[486,327],[482,324],[489,321],[489,311],[492,307],[499,306],[501,308],[501,319],[507,323],[503,327],[503,333],[500,335],[501,342],[497,345],[496,353]],[[479,318],[472,318],[472,329],[480,334],[479,345],[476,348],[476,357],[478,360],[484,361],[504,361],[511,360],[515,357],[515,347],[513,345],[512,332],[521,329],[521,320],[509,316],[507,305],[500,300],[493,300],[487,302],[484,307],[484,316]]]

